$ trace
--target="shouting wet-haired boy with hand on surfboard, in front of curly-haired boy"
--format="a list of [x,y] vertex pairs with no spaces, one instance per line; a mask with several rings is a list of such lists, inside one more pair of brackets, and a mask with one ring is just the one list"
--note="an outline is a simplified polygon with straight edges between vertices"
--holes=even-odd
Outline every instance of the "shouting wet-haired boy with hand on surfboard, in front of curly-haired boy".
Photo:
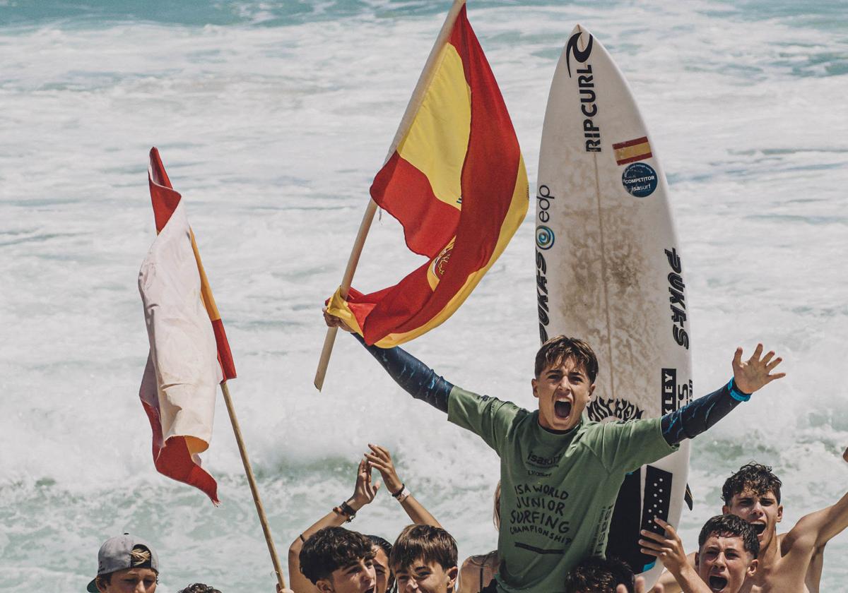
[[[739,593],[745,579],[755,574],[760,542],[753,526],[744,519],[731,514],[709,519],[698,535],[695,566],[689,563],[674,528],[655,520],[666,533],[643,531],[639,545],[645,554],[661,560],[683,593]],[[661,585],[655,589],[659,590]]]

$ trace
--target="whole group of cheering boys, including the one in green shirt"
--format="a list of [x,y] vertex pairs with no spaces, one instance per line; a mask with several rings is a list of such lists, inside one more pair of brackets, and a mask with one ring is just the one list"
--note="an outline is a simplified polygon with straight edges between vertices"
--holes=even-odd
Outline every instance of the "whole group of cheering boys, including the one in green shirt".
[[[325,320],[350,330],[326,311]],[[661,418],[596,423],[583,418],[583,410],[594,391],[598,362],[591,347],[577,339],[557,336],[539,350],[531,382],[538,399],[534,412],[452,385],[400,348],[365,347],[411,396],[447,413],[449,422],[480,435],[498,453],[500,515],[517,511],[516,492],[526,497],[522,485],[527,482],[539,485],[538,491],[567,489],[567,504],[559,513],[569,525],[568,540],[500,529],[494,579],[462,587],[475,593],[644,593],[644,582],[633,578],[627,564],[604,558],[608,522],[600,518],[611,512],[625,474],[675,451],[681,441],[709,430],[752,393],[784,376],[773,373],[781,361],[774,352],[763,354],[758,345],[743,361],[738,348],[734,375],[717,391]],[[359,465],[354,496],[293,542],[292,589],[453,593],[460,574],[454,538],[411,496],[388,451],[370,448]],[[379,484],[371,483],[372,468],[413,522],[393,544],[341,526],[376,495]],[[639,545],[667,573],[651,591],[818,593],[823,548],[848,527],[848,494],[778,535],[780,487],[771,468],[756,463],[741,468],[722,489],[722,514],[704,524],[698,551],[688,557],[672,526],[655,519],[664,533],[645,530]],[[103,544],[98,561],[98,577],[88,587],[92,593],[153,593],[156,588],[158,559],[142,540],[112,538]],[[480,574],[482,580],[483,570]],[[181,593],[215,591],[198,584]]]

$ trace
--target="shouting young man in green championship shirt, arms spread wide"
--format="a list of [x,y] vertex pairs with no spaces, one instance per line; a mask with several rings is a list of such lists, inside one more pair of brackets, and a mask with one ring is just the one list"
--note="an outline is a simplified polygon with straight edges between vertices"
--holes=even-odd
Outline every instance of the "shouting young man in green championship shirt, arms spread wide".
[[[324,318],[350,331],[326,310]],[[583,557],[603,555],[625,474],[666,457],[784,376],[771,373],[781,360],[774,352],[762,356],[758,345],[743,362],[738,348],[734,378],[722,389],[662,418],[596,423],[585,420],[583,410],[598,361],[581,340],[556,336],[539,349],[534,412],[452,385],[398,347],[366,348],[411,396],[448,413],[449,422],[480,435],[498,453],[500,593],[563,590],[566,574]]]

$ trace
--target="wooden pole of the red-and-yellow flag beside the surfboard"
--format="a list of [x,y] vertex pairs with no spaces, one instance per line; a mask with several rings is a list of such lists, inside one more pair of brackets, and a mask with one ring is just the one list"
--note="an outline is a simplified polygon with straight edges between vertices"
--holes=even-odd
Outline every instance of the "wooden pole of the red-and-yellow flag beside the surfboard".
[[[400,141],[403,140],[404,136],[406,136],[406,132],[409,131],[410,125],[412,125],[412,120],[415,119],[415,116],[418,113],[418,108],[421,107],[421,103],[424,101],[424,96],[425,94],[427,94],[427,87],[430,86],[432,77],[436,73],[437,66],[440,62],[440,58],[442,57],[442,48],[444,47],[445,43],[448,42],[450,32],[454,29],[456,17],[459,16],[460,10],[465,5],[466,0],[454,0],[453,6],[450,7],[450,10],[448,11],[448,16],[444,19],[442,29],[438,32],[436,42],[432,45],[430,55],[427,56],[427,63],[424,64],[424,69],[421,70],[421,75],[418,77],[416,88],[414,91],[412,91],[410,103],[406,105],[404,117],[400,119],[398,131],[394,134],[392,145],[388,149],[388,155],[386,156],[386,160],[383,162],[383,164],[388,162],[389,158],[392,158],[392,155],[397,149]],[[357,264],[360,263],[362,247],[365,246],[365,237],[368,236],[368,230],[371,229],[371,222],[374,220],[375,213],[377,213],[377,203],[374,202],[374,200],[369,200],[368,207],[365,208],[365,215],[362,217],[362,222],[360,223],[360,230],[356,234],[356,241],[354,241],[354,247],[350,252],[350,258],[348,258],[348,267],[344,270],[344,275],[342,277],[342,284],[340,285],[340,288],[341,296],[343,299],[348,298],[350,283],[354,280],[354,272],[356,271]],[[326,336],[324,337],[324,347],[321,349],[321,360],[319,360],[318,362],[318,370],[315,371],[315,387],[318,389],[318,391],[321,391],[321,387],[324,386],[326,367],[330,363],[332,345],[336,341],[337,333],[338,328],[335,327],[327,328],[326,330]]]

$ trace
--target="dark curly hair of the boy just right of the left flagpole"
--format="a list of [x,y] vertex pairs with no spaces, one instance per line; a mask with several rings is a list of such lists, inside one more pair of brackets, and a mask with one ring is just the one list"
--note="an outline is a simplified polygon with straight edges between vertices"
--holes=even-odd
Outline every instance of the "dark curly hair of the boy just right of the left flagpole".
[[374,559],[374,547],[367,536],[343,527],[325,527],[300,549],[300,572],[317,585],[319,580],[329,579],[334,570],[362,559]]

